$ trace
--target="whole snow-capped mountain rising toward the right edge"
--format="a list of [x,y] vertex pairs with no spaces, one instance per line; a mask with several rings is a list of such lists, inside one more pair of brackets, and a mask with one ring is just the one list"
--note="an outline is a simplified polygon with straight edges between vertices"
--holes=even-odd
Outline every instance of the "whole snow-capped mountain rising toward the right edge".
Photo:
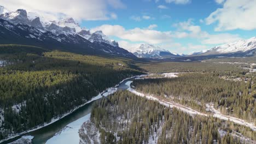
[[238,40],[234,43],[215,46],[210,50],[196,52],[193,55],[253,55],[256,52],[256,37]]

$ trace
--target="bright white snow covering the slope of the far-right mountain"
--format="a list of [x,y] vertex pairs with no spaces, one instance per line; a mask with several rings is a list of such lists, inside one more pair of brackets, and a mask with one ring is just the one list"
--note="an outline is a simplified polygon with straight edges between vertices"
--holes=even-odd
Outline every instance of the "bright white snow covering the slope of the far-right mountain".
[[213,47],[208,51],[216,51],[218,53],[246,52],[256,48],[256,37],[248,40],[239,40],[235,43],[225,44]]

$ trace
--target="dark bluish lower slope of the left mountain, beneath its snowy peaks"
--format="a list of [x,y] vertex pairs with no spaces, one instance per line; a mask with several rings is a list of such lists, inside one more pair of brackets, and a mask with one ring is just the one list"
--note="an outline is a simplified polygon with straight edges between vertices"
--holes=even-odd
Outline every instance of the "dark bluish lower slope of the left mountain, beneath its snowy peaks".
[[44,47],[45,49],[58,49],[90,55],[113,55],[136,58],[132,53],[113,47],[108,44],[91,43],[78,34],[68,32],[53,33],[42,32],[28,25],[14,25],[0,19],[0,44],[22,44]]

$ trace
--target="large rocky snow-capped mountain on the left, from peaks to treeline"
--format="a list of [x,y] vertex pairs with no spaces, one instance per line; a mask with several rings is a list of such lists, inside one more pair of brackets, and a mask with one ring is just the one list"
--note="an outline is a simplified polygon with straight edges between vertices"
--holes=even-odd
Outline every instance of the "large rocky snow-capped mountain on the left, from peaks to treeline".
[[42,22],[38,14],[29,13],[28,16],[27,11],[23,9],[8,11],[0,7],[0,12],[3,13],[0,13],[0,44],[32,44],[46,46],[45,49],[63,47],[69,51],[136,58],[132,53],[120,48],[117,42],[111,41],[102,31],[91,34],[72,18],[59,22],[44,19]]

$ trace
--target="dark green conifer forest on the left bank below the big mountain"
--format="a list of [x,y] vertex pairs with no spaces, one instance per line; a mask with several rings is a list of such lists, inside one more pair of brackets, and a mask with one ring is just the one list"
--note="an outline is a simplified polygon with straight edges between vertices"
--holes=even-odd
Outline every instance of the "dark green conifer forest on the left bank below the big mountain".
[[0,139],[50,122],[121,80],[142,74],[129,63],[129,59],[0,45]]

